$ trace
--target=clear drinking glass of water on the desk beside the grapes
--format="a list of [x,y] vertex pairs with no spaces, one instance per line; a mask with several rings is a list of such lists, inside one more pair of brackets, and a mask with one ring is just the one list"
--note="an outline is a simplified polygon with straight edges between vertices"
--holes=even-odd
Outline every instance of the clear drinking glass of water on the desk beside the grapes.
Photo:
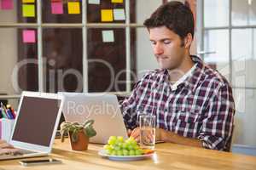
[[143,149],[154,150],[155,144],[155,116],[140,115],[140,145]]

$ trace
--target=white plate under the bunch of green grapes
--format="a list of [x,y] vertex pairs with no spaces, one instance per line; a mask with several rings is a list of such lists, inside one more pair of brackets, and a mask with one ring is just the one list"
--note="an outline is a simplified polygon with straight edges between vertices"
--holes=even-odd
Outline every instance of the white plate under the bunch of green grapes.
[[154,156],[154,153],[146,154],[142,156],[109,156],[105,152],[105,150],[100,150],[98,154],[99,156],[108,158],[109,160],[113,160],[113,161],[137,161],[137,160],[143,160],[143,159]]

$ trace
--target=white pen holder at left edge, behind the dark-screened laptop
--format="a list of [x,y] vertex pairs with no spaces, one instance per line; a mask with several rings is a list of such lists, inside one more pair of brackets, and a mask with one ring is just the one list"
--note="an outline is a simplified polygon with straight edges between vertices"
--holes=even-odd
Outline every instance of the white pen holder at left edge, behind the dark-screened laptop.
[[14,125],[15,120],[0,119],[0,139],[9,142]]

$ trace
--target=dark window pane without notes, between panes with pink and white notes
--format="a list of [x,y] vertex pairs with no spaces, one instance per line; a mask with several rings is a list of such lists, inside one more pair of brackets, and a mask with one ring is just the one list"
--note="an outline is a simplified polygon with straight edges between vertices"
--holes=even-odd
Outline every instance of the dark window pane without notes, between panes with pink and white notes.
[[81,28],[44,28],[43,56],[46,92],[83,92]]

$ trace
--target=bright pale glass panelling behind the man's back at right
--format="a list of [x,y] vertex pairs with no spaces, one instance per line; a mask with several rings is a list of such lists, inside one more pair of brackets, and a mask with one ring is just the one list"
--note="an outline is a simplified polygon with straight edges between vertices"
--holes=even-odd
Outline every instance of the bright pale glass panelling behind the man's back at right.
[[255,28],[254,0],[197,1],[202,26],[201,57],[230,81],[235,104],[234,143],[255,146]]

